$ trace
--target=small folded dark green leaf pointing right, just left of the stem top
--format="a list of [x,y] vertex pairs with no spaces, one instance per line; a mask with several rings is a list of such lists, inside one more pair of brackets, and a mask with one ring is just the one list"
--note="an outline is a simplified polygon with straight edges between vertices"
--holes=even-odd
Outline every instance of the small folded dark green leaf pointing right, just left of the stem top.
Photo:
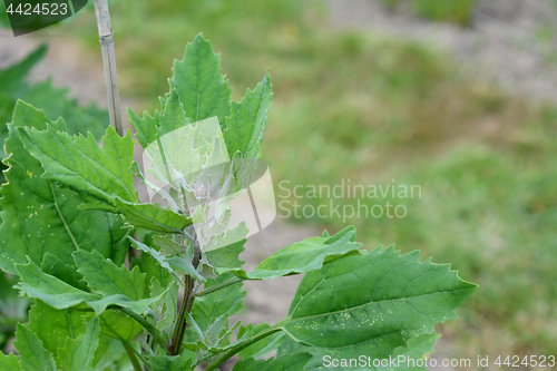
[[179,234],[192,225],[192,218],[187,215],[165,209],[159,204],[134,204],[116,199],[116,206],[124,215],[126,225],[134,228]]

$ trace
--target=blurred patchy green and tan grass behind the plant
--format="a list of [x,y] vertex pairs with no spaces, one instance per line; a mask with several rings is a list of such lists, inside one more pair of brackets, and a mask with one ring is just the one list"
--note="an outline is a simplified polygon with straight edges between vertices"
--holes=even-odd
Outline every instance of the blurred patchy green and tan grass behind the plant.
[[[466,26],[475,1],[411,3],[421,16]],[[422,191],[391,199],[407,207],[401,218],[291,223],[333,232],[353,224],[368,248],[421,250],[423,260],[451,263],[478,283],[460,320],[438,328],[447,357],[556,354],[557,107],[465,78],[428,45],[335,30],[326,17],[321,1],[116,1],[120,94],[136,111],[153,113],[172,61],[198,32],[222,53],[235,100],[270,69],[275,94],[263,159],[275,185],[394,179]],[[94,17],[61,29],[84,46],[84,59],[101,64]]]

